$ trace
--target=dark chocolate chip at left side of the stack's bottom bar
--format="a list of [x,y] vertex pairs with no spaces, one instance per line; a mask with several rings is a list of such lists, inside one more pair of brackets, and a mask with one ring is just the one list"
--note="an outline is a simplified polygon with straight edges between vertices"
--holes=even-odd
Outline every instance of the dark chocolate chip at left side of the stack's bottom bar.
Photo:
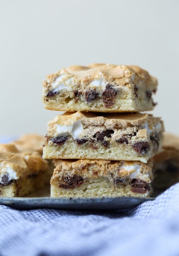
[[64,177],[63,183],[59,184],[59,188],[75,188],[79,187],[84,182],[83,178],[79,175],[66,176]]

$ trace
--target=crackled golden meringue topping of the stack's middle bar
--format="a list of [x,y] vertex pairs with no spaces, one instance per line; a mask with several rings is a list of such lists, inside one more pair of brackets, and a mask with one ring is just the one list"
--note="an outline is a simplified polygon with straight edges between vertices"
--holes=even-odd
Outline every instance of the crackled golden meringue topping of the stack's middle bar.
[[[62,115],[57,115],[54,120],[47,124],[48,136],[61,136],[65,132],[70,134],[75,133],[77,125],[81,123],[81,136],[84,135],[85,129],[89,128],[88,135],[94,135],[95,131],[101,130],[125,130],[133,132],[135,128],[138,132],[138,137],[146,138],[149,136],[149,130],[153,130],[155,126],[160,125],[160,130],[163,132],[163,122],[159,117],[153,117],[148,114],[141,113],[95,113],[95,112],[66,112]],[[59,128],[62,134],[59,133]],[[130,130],[130,131],[129,131]],[[135,131],[135,132],[136,132]],[[114,136],[114,135],[113,135]]]

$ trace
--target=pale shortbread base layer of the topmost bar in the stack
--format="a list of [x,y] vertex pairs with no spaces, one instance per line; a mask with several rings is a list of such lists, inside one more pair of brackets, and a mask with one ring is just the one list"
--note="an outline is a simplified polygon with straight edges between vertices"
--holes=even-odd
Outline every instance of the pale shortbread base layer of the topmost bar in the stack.
[[[125,86],[124,86],[125,87]],[[126,88],[125,88],[126,89]],[[87,103],[82,96],[75,102],[73,92],[63,91],[60,95],[51,98],[43,95],[42,101],[46,109],[60,111],[93,111],[93,112],[139,112],[153,110],[154,104],[152,97],[146,98],[144,88],[138,89],[138,98],[134,97],[131,89],[125,90],[126,93],[120,92],[115,98],[111,107],[105,107],[103,99],[96,99]]]

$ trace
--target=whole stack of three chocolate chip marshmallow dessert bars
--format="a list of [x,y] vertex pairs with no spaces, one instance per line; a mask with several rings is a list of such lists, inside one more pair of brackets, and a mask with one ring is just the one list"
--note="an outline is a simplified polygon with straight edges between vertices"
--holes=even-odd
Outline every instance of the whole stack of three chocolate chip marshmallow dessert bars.
[[52,197],[152,193],[163,122],[152,110],[157,80],[138,66],[71,66],[46,76],[43,102],[68,111],[48,122],[43,158],[54,159]]

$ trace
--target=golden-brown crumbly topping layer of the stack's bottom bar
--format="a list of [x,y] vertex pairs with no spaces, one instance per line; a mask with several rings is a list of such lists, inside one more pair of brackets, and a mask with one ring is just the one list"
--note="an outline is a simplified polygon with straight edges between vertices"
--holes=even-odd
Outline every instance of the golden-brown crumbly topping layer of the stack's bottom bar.
[[[88,178],[101,176],[111,178],[124,178],[125,176],[130,176],[135,172],[135,167],[140,166],[141,172],[137,173],[135,178],[140,178],[145,174],[149,174],[146,182],[151,182],[152,179],[152,166],[153,161],[149,160],[147,164],[140,161],[110,161],[110,160],[91,160],[91,159],[79,159],[79,160],[53,160],[56,168],[53,172],[52,180],[59,174],[68,175],[80,175]],[[121,168],[122,166],[122,168]],[[126,167],[126,169],[125,169]],[[150,177],[150,178],[149,178]]]

